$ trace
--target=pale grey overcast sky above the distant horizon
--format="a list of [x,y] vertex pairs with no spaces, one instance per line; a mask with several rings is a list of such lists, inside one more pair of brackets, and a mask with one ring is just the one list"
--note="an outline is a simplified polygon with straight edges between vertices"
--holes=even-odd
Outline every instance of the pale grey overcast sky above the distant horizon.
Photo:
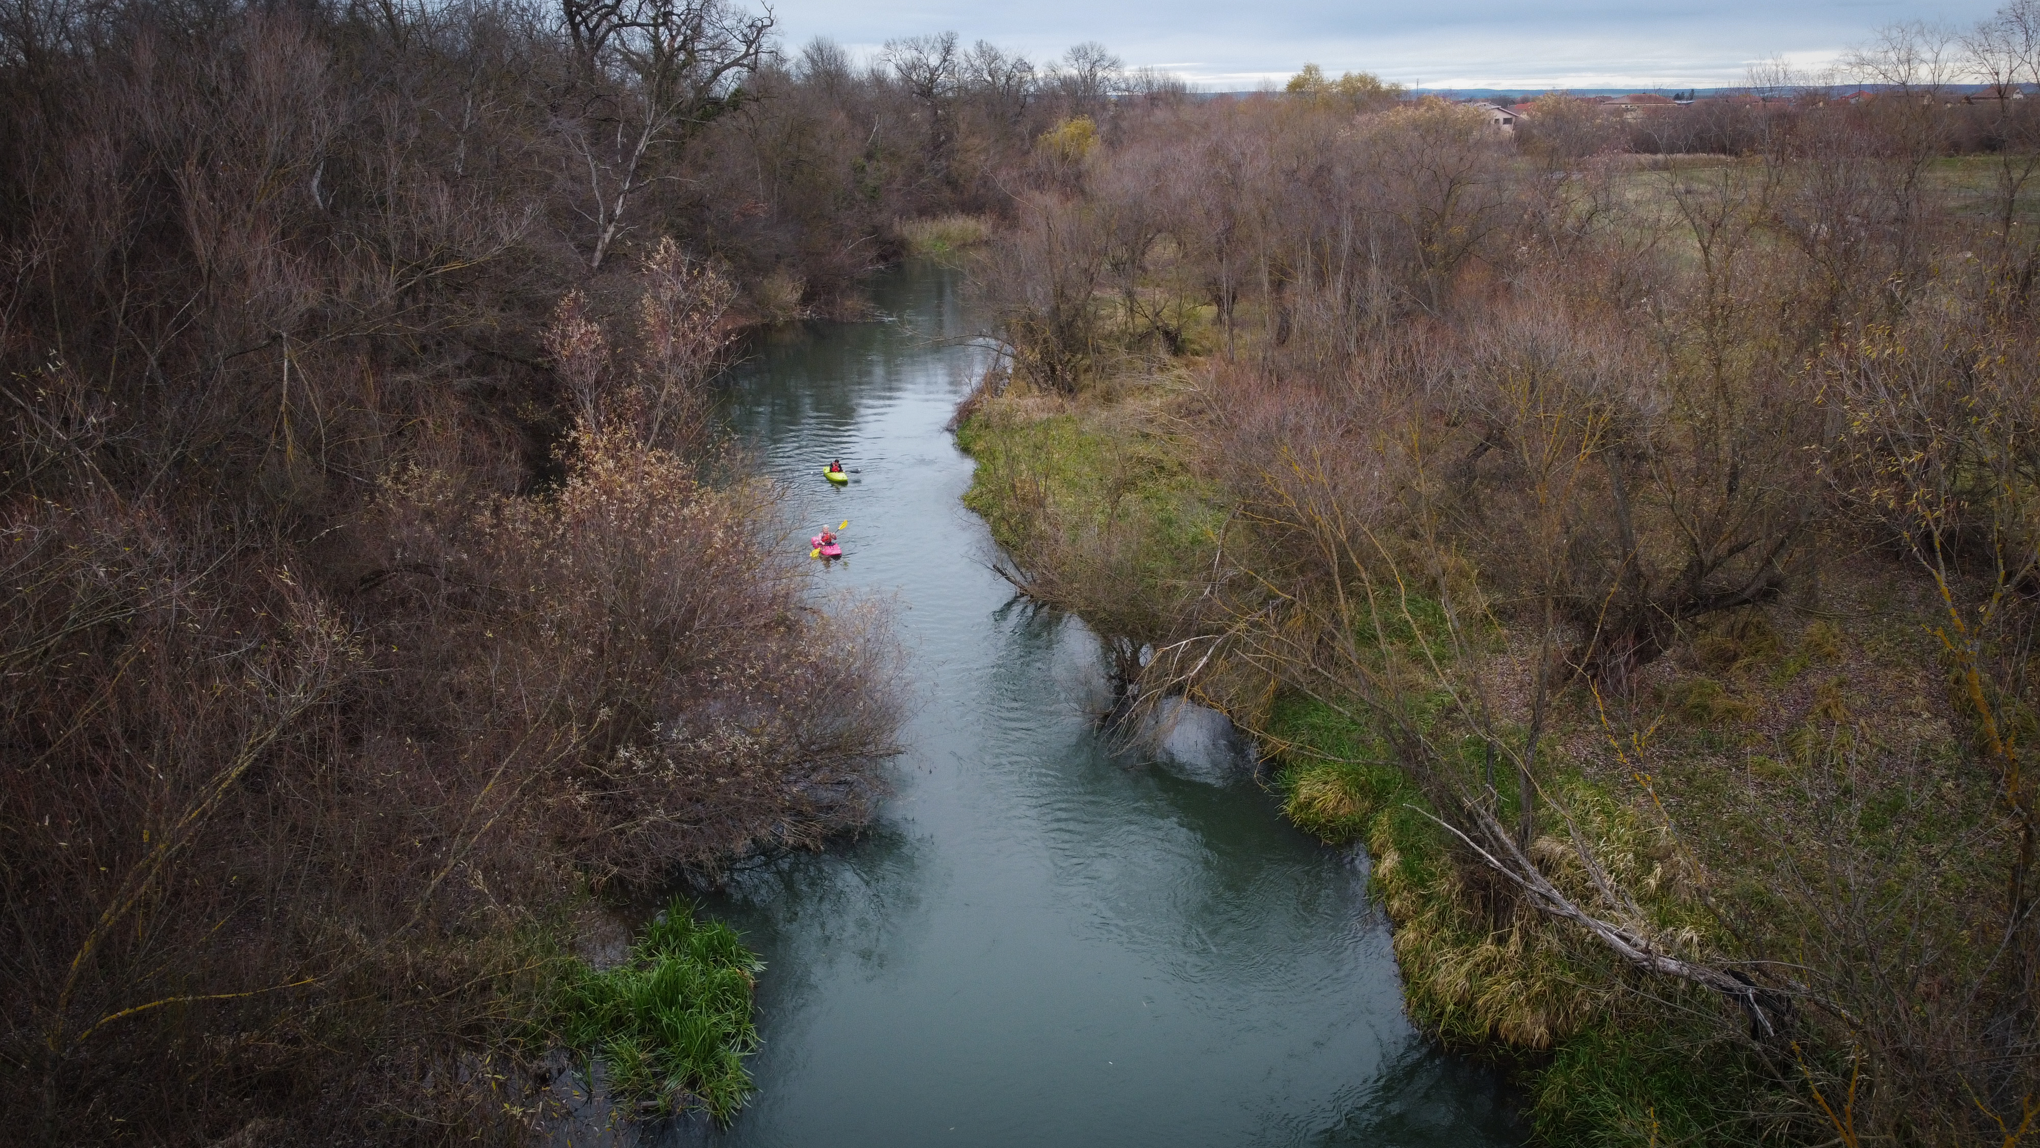
[[1130,67],[1255,88],[1306,61],[1426,88],[1718,88],[1781,55],[1822,67],[1897,20],[1973,25],[2001,0],[777,0],[785,45],[875,51],[955,31],[1036,61],[1100,41]]

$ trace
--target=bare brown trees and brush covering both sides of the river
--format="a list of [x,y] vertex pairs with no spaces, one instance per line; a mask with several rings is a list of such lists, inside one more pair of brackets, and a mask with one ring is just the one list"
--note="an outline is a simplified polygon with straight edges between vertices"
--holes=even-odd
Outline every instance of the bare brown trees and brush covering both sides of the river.
[[1675,997],[1769,1089],[1710,1128],[2018,1142],[2032,29],[1995,100],[1901,29],[1879,98],[1514,149],[720,2],[10,6],[0,1119],[520,1138],[577,895],[814,846],[889,750],[708,376],[996,217],[1014,576],[1144,697],[1348,719],[1291,809],[1375,835],[1420,1013],[1559,1079]]

